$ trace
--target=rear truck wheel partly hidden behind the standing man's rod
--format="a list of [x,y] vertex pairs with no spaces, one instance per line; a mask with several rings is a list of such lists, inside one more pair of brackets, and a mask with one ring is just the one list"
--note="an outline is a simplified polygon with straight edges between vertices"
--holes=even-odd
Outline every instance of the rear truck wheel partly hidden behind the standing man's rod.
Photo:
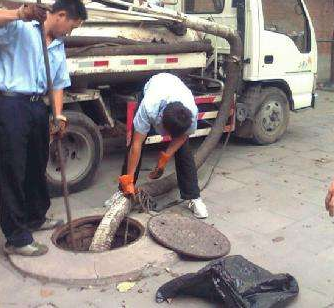
[[[103,156],[102,136],[95,123],[76,111],[64,112],[68,119],[67,133],[62,140],[66,178],[70,192],[90,185]],[[52,196],[62,193],[56,142],[50,143],[50,157],[46,170]]]

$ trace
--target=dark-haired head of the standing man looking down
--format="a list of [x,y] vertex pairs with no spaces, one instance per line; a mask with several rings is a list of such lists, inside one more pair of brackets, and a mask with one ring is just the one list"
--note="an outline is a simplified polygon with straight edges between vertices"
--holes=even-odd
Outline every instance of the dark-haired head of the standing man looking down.
[[56,0],[48,14],[48,30],[54,38],[71,34],[87,19],[87,11],[81,0]]

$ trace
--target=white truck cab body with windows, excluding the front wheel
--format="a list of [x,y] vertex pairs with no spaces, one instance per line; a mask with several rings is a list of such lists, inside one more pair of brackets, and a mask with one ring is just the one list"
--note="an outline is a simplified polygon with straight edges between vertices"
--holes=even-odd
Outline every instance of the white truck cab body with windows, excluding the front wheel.
[[[239,30],[245,83],[284,89],[291,110],[314,104],[317,43],[303,0],[183,0],[169,7]],[[208,37],[217,49],[219,66],[229,46]]]

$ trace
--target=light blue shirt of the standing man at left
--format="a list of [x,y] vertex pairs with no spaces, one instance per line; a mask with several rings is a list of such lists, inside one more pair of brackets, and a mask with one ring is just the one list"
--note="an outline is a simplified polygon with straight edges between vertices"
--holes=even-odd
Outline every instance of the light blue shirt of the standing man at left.
[[[54,89],[70,86],[63,42],[55,39],[48,53]],[[18,20],[0,27],[0,91],[45,94],[46,90],[39,23]]]

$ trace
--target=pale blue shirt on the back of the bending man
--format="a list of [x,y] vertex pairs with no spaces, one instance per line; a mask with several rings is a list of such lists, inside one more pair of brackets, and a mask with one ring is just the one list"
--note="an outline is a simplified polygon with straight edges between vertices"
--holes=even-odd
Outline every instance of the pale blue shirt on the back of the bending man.
[[133,120],[135,131],[146,135],[152,125],[158,134],[166,135],[162,125],[163,111],[167,104],[176,101],[191,111],[192,124],[186,134],[193,134],[197,129],[198,114],[194,96],[181,79],[169,73],[155,75],[146,83],[144,98]]

